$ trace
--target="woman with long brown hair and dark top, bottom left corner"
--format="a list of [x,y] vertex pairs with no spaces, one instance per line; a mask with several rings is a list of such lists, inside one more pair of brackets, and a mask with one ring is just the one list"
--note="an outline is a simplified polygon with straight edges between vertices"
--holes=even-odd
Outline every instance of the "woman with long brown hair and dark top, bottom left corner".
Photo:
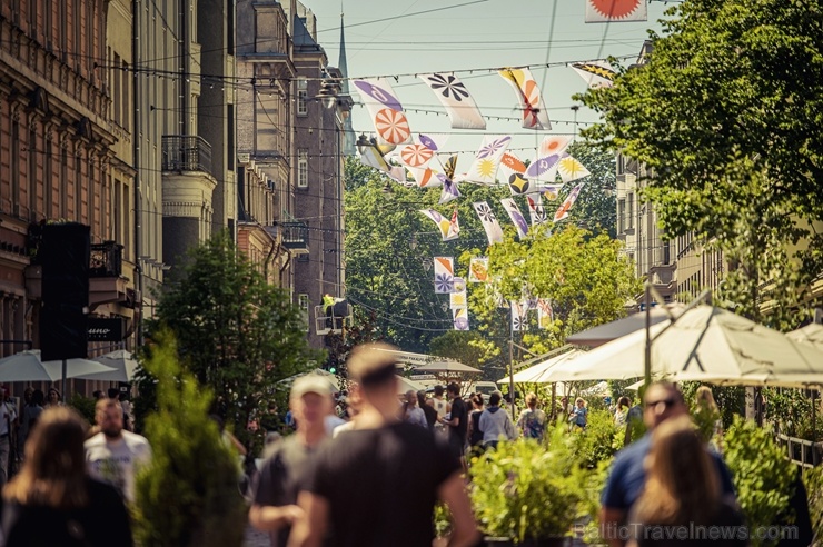
[[120,495],[86,474],[82,419],[68,407],[42,412],[20,473],[2,491],[7,547],[131,547]]

